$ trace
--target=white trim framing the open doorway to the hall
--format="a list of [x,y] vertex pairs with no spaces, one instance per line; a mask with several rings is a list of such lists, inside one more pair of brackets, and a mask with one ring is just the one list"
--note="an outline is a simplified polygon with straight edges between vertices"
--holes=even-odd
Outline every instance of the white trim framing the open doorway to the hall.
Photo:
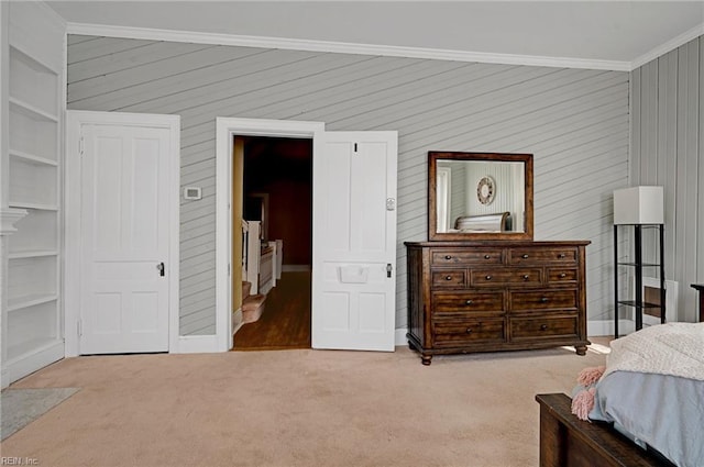
[[234,136],[304,137],[315,140],[324,122],[216,119],[216,341],[217,351],[232,348],[232,142]]

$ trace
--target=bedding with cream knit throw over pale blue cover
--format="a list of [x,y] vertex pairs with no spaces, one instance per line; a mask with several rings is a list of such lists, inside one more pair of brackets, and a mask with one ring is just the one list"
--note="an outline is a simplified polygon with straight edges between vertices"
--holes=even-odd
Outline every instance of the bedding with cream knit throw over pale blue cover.
[[647,327],[610,346],[590,419],[680,467],[704,466],[704,323]]

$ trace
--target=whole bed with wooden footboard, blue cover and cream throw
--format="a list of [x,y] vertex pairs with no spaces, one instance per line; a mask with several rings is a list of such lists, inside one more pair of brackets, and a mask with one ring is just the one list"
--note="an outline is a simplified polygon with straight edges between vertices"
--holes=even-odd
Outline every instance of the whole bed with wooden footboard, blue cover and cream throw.
[[[610,346],[601,377],[573,399],[536,396],[540,465],[704,466],[704,323],[650,326]],[[584,416],[574,402],[588,396]]]

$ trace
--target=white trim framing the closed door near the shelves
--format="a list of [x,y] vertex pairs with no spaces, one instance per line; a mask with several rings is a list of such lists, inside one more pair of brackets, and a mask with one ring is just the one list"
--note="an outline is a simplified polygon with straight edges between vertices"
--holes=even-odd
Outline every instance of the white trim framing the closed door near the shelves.
[[81,199],[81,126],[128,125],[166,129],[169,131],[170,167],[168,175],[168,352],[178,349],[179,321],[179,265],[180,265],[180,116],[154,113],[102,112],[67,110],[65,129],[64,173],[64,338],[66,357],[80,354],[80,199]]

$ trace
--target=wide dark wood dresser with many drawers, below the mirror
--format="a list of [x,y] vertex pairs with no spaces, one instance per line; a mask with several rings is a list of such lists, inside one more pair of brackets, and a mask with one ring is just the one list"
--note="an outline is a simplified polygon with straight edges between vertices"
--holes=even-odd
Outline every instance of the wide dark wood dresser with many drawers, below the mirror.
[[408,343],[433,355],[573,345],[586,353],[585,247],[406,242]]

